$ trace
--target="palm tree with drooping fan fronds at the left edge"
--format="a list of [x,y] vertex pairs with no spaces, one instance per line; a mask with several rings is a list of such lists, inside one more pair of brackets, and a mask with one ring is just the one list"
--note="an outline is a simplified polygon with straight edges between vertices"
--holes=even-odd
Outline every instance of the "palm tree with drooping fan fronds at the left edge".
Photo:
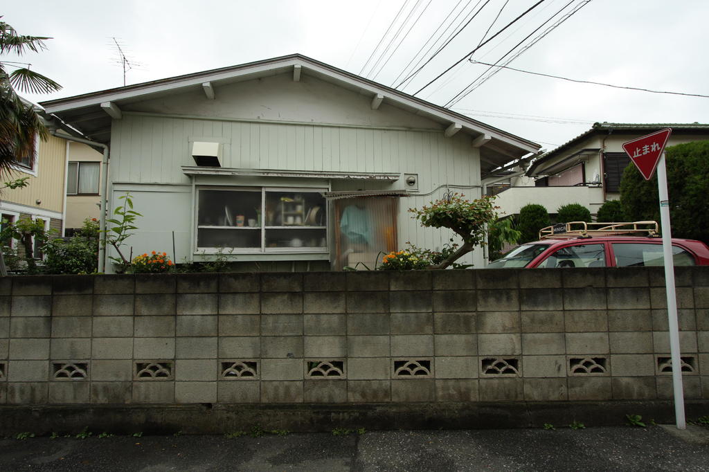
[[[2,18],[0,16],[0,18]],[[47,49],[45,36],[19,35],[0,21],[0,56],[23,55]],[[26,66],[26,67],[18,67]],[[11,72],[8,69],[13,69]],[[30,64],[0,60],[0,176],[13,169],[13,162],[35,159],[35,140],[46,140],[47,128],[32,103],[23,101],[15,89],[33,94],[50,94],[62,88],[52,79],[30,70]]]

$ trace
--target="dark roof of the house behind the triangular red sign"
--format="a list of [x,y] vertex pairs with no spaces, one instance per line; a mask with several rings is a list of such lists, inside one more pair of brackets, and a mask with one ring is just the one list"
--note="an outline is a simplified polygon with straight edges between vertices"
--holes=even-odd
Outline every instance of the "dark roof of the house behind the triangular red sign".
[[590,130],[585,133],[574,137],[574,139],[564,142],[561,146],[554,150],[542,154],[540,157],[535,159],[529,169],[527,169],[527,176],[534,176],[537,167],[545,162],[548,162],[554,157],[559,157],[564,154],[567,150],[581,145],[584,140],[588,137],[598,136],[598,135],[611,135],[613,133],[635,133],[642,132],[644,134],[652,133],[653,131],[661,130],[663,128],[672,128],[672,133],[683,133],[683,134],[693,134],[693,135],[709,135],[709,124],[705,123],[608,123],[604,121],[603,123],[593,123]]

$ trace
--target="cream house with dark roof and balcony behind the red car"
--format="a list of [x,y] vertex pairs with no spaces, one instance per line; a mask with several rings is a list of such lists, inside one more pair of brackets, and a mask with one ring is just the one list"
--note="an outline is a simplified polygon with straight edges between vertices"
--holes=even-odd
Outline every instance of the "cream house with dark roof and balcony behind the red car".
[[581,203],[595,214],[605,201],[620,198],[620,178],[630,163],[623,142],[663,128],[672,128],[667,146],[709,139],[709,125],[700,123],[596,123],[542,154],[526,172],[497,181],[496,186],[504,186],[497,189],[497,204],[508,215],[519,213],[527,203],[540,203],[549,213],[566,203]]

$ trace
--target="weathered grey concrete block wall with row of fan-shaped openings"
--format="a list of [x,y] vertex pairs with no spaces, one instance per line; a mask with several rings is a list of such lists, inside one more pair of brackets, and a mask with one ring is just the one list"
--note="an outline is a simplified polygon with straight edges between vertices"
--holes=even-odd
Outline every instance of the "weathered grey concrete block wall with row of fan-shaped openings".
[[[709,268],[677,268],[709,399]],[[671,398],[661,268],[0,279],[0,404]]]

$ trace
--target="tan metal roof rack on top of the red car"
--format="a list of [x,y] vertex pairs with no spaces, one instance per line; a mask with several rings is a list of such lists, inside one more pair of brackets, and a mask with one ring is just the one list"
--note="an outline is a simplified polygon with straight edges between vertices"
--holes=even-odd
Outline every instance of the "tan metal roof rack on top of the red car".
[[539,230],[540,240],[571,240],[601,236],[659,237],[659,228],[657,221],[633,221],[631,223],[572,221],[571,223],[557,223]]

